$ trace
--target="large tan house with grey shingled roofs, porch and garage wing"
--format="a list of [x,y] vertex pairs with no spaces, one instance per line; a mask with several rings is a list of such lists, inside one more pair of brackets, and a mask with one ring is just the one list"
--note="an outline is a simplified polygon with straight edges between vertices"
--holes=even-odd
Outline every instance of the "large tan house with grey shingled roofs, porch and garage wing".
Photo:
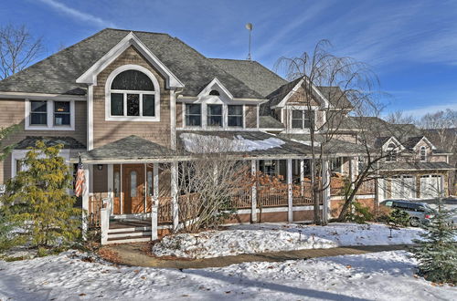
[[[254,61],[204,57],[165,34],[101,30],[0,81],[0,126],[21,125],[6,141],[17,144],[2,162],[0,183],[16,175],[37,140],[62,143],[72,167],[79,156],[85,164],[81,206],[90,223],[101,224],[102,243],[150,240],[179,226],[177,168],[192,158],[192,140],[230,139],[248,145],[231,151],[234,159],[248,161],[252,172],[282,175],[287,186],[273,197],[252,187],[228,223],[256,222],[259,214],[264,222],[310,221],[309,127],[328,119],[329,111],[350,120],[352,107],[339,88],[316,87],[308,111],[296,93],[302,81],[287,82]],[[330,171],[353,177],[364,154],[355,128],[336,138],[325,149],[324,182]],[[386,141],[399,144],[394,137]],[[403,145],[412,161],[401,164],[413,164],[413,176],[420,174],[415,197],[429,197],[420,191],[421,179],[445,182],[448,154],[426,138],[415,141]],[[386,172],[404,181],[411,170],[401,164],[389,162],[393,169]],[[388,183],[382,183],[387,191]],[[342,202],[336,186],[323,192],[324,213]],[[357,198],[376,207],[384,196],[368,182]],[[102,200],[112,203],[110,212],[101,209]]]

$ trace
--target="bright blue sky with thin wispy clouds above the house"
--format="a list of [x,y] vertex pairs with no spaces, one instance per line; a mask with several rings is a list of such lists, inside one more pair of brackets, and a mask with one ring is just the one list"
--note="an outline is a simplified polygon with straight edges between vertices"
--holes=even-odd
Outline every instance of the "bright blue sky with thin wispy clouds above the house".
[[0,25],[43,36],[48,57],[104,27],[177,36],[207,57],[279,57],[329,39],[333,52],[364,61],[390,97],[387,111],[420,116],[457,109],[457,1],[3,0]]

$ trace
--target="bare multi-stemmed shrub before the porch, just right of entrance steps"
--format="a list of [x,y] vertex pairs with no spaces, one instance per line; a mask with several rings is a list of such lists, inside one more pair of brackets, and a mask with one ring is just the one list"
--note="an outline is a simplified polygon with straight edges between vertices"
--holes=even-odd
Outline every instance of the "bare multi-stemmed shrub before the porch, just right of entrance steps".
[[186,150],[193,155],[191,161],[182,161],[178,167],[179,220],[184,231],[195,233],[217,227],[237,202],[245,202],[252,177],[250,165],[234,156],[245,150],[242,140],[181,135]]

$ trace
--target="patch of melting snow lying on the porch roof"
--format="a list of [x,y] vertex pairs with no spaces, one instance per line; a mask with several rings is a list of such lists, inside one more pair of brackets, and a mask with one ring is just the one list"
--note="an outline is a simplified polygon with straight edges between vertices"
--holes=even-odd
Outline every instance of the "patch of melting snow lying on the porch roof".
[[278,138],[248,140],[240,135],[228,139],[214,135],[182,133],[180,137],[185,149],[192,153],[268,150],[281,147],[285,143]]

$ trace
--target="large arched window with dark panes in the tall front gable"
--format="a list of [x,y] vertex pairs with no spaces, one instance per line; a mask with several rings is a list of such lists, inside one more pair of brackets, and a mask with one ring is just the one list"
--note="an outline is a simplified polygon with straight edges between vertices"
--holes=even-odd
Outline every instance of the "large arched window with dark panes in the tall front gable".
[[159,114],[159,86],[144,67],[122,66],[107,80],[108,119],[151,119]]

